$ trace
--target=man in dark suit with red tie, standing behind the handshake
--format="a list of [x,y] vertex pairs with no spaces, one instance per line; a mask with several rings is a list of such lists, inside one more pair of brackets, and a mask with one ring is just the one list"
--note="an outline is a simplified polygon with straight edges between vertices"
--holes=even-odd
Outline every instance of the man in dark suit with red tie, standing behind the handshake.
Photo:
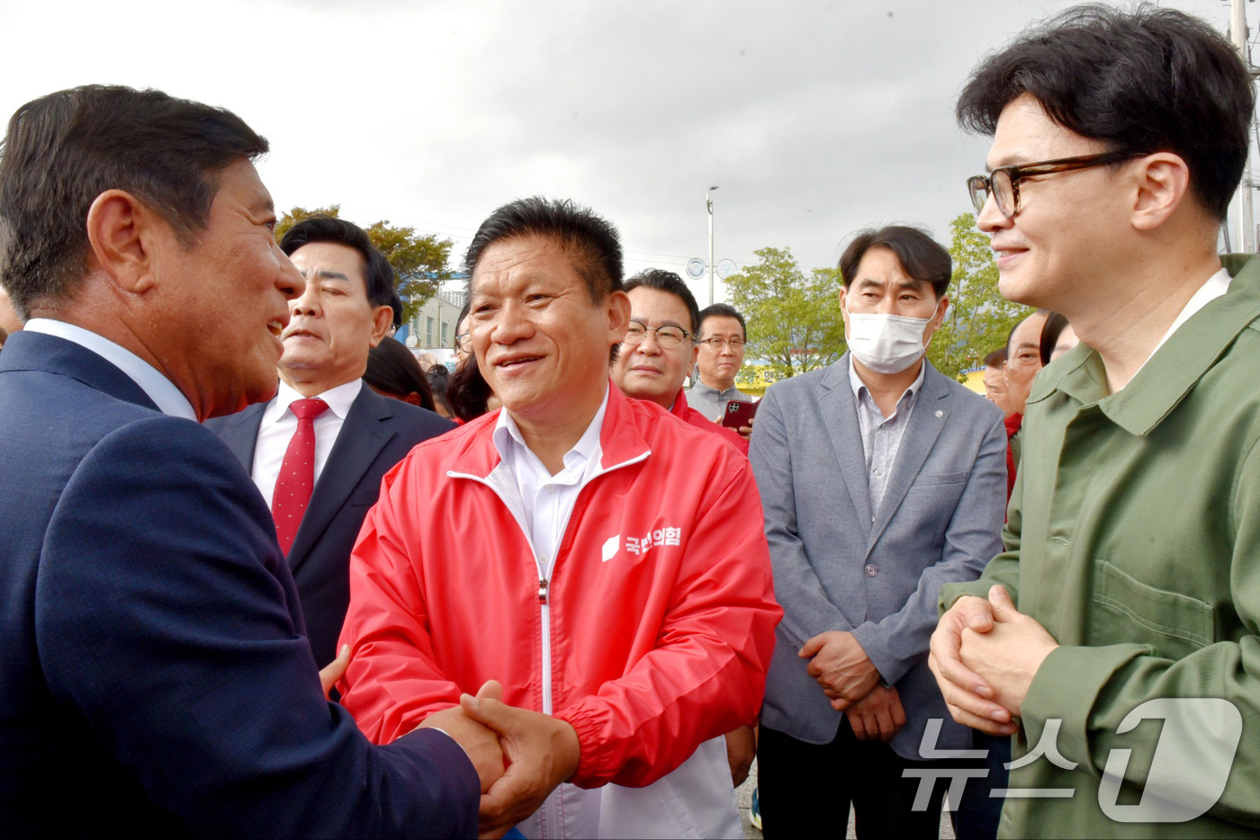
[[[312,419],[312,490],[304,511],[277,518],[277,534],[306,618],[315,661],[336,655],[350,603],[350,549],[381,479],[411,447],[455,428],[423,408],[382,397],[363,382],[368,351],[389,332],[393,268],[368,234],[344,219],[312,217],[285,233],[280,249],[306,280],[306,291],[289,302],[282,339],[280,390],[268,403],[207,424],[222,437],[284,518],[285,457],[304,399],[324,403]],[[290,542],[291,540],[291,542]],[[289,544],[286,544],[289,543]]]

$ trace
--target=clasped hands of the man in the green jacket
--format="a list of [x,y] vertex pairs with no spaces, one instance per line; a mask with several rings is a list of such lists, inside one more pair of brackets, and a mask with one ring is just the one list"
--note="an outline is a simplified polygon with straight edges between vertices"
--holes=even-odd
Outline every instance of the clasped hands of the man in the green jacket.
[[927,666],[959,723],[990,735],[1011,735],[1033,678],[1058,642],[1036,618],[1019,612],[1005,587],[989,597],[965,596],[932,632]]

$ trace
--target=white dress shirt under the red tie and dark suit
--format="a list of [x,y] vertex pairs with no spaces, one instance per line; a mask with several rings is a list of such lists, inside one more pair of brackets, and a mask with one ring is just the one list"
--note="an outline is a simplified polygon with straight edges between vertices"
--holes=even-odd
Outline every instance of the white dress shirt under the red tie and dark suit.
[[[315,418],[315,484],[319,482],[319,476],[324,472],[324,465],[328,463],[328,456],[333,451],[333,445],[336,443],[336,436],[341,433],[345,416],[362,388],[362,379],[352,379],[344,385],[338,385],[318,395],[319,399],[328,403],[328,411]],[[271,497],[276,492],[276,480],[280,477],[280,466],[285,462],[289,441],[297,431],[297,417],[289,411],[289,407],[299,399],[306,399],[306,397],[281,380],[275,399],[267,403],[262,412],[258,440],[253,447],[253,468],[249,470],[249,475],[253,476],[253,484],[258,487],[258,492],[267,500],[268,508]],[[311,486],[314,487],[315,484]]]

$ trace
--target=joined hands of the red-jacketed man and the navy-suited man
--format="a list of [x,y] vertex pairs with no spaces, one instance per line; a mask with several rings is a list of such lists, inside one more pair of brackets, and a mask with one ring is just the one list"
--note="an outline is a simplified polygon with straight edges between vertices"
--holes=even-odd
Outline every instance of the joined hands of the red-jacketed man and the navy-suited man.
[[481,780],[480,831],[499,837],[530,814],[556,787],[573,776],[581,758],[577,733],[564,720],[503,703],[503,688],[490,680],[476,696],[428,715],[433,727],[454,738]]

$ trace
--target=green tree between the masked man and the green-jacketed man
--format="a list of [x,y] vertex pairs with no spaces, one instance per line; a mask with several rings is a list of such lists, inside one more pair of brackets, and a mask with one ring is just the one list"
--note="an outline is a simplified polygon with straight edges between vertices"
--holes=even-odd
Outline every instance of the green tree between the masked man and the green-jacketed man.
[[932,336],[927,358],[946,377],[984,363],[992,350],[1005,345],[1011,327],[1032,310],[1012,304],[998,291],[998,266],[989,237],[975,228],[975,217],[964,213],[950,222],[950,307]]

